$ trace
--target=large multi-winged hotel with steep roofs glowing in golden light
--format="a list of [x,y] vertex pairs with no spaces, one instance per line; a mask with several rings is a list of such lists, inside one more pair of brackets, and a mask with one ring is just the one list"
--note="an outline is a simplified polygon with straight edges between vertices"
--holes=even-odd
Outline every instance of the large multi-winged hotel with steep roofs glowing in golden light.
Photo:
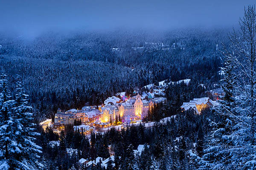
[[[61,112],[58,108],[55,113],[55,124],[64,127],[67,124],[74,124],[75,120],[81,122],[83,125],[93,125],[96,127],[108,127],[110,122],[115,122],[116,118],[119,120],[130,117],[131,119],[141,119],[148,115],[148,111],[154,104],[165,102],[164,97],[152,97],[149,93],[143,94],[143,98],[134,92],[135,96],[128,99],[125,97],[125,102],[120,102],[121,99],[113,96],[105,100],[105,105],[102,104],[96,107],[84,106],[81,110],[70,109],[66,112]],[[147,96],[145,99],[145,95]]]

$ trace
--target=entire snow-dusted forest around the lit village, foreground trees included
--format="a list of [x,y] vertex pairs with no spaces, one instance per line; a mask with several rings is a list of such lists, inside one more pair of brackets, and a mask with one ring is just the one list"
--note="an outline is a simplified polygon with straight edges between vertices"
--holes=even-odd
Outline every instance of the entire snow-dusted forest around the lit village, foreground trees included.
[[[233,30],[0,34],[0,170],[255,170],[255,68],[255,6]],[[165,79],[191,81],[170,83],[140,124],[90,135],[39,125]],[[217,107],[181,110],[219,87]]]

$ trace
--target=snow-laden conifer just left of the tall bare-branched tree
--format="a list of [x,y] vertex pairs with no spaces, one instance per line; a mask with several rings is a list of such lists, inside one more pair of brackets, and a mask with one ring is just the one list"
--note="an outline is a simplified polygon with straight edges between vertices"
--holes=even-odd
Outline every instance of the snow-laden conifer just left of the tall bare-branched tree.
[[227,136],[231,135],[232,125],[234,123],[235,100],[234,100],[234,69],[235,65],[232,56],[224,52],[224,79],[221,80],[221,87],[225,95],[224,99],[219,101],[219,107],[215,109],[218,117],[210,120],[213,131],[209,134],[208,144],[204,150],[204,156],[201,161],[200,169],[220,169],[231,170],[234,167],[231,164],[230,147],[232,142]]

